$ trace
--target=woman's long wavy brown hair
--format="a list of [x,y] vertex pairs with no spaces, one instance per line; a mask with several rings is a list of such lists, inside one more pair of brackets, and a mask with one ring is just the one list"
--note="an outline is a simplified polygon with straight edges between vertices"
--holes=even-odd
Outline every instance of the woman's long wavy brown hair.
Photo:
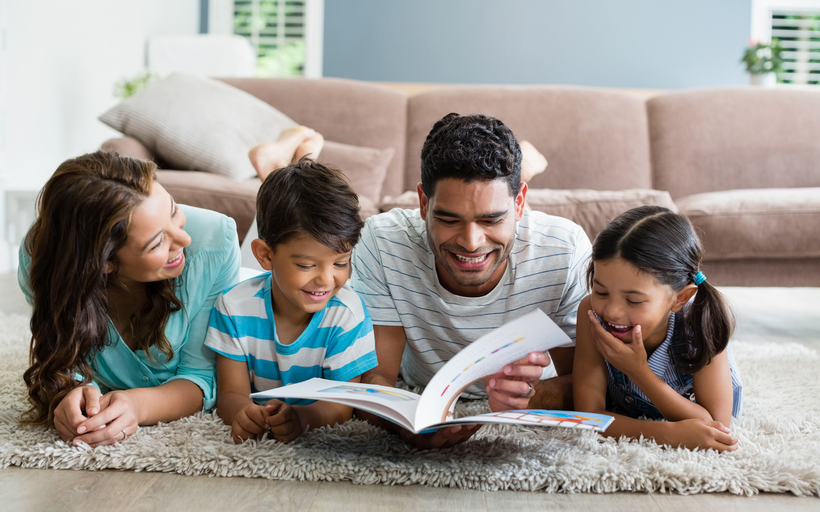
[[[108,343],[107,263],[117,265],[131,214],[151,194],[157,165],[94,152],[64,161],[38,198],[37,220],[25,235],[31,256],[30,367],[23,380],[31,407],[24,424],[53,421],[74,387],[91,382],[93,357]],[[156,346],[170,360],[165,326],[182,308],[177,279],[146,283],[146,299],[130,318],[137,349]]]

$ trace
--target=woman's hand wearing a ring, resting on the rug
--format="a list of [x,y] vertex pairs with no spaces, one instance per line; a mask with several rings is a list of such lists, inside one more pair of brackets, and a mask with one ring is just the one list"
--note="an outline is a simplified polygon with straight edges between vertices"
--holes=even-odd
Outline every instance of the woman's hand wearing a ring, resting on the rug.
[[77,428],[81,434],[74,444],[84,442],[96,448],[125,441],[139,428],[139,411],[127,391],[107,392],[99,399],[98,414],[84,420]]

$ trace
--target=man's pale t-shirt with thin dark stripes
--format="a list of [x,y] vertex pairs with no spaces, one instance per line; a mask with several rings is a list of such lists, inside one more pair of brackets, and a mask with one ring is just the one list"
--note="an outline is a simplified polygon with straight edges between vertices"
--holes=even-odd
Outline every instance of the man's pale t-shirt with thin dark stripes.
[[[425,385],[467,344],[535,308],[574,340],[589,255],[581,226],[526,210],[499,284],[483,297],[461,297],[439,283],[419,211],[394,208],[365,223],[353,248],[350,285],[364,298],[374,324],[403,326],[402,376]],[[553,375],[550,365],[544,377]],[[474,384],[463,396],[486,393]]]

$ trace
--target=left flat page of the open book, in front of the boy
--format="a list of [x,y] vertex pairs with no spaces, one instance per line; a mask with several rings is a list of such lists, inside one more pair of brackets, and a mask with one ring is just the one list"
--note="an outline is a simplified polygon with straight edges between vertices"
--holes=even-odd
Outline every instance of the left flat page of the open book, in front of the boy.
[[332,401],[345,406],[367,410],[374,415],[379,415],[412,430],[413,416],[416,414],[416,408],[421,396],[395,387],[311,378],[302,383],[252,393],[251,398],[255,400],[304,398],[307,400]]

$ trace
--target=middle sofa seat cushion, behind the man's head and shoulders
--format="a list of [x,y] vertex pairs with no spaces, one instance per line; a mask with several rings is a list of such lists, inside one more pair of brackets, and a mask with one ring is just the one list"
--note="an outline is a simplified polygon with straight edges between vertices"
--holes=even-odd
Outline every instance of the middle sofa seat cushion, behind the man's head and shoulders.
[[[665,206],[677,211],[669,193],[649,188],[632,190],[553,190],[551,188],[531,188],[526,194],[531,210],[543,211],[572,220],[584,229],[586,235],[594,239],[610,220],[635,206]],[[405,192],[398,197],[385,197],[381,211],[391,208],[417,208],[418,193]]]

